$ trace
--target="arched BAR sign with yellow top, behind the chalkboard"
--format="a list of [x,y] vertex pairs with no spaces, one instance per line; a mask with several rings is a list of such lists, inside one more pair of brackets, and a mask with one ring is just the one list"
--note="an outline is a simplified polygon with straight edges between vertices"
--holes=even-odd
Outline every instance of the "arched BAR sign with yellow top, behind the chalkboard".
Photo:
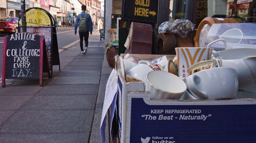
[[[45,37],[49,69],[51,71],[50,77],[52,77],[53,65],[59,65],[60,71],[55,20],[48,11],[34,7],[26,10],[26,22],[28,24],[27,32]],[[22,26],[18,26],[19,31],[22,31]]]

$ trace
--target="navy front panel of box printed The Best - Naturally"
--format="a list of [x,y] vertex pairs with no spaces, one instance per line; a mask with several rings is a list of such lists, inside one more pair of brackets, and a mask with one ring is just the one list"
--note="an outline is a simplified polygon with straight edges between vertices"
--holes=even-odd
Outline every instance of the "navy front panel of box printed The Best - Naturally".
[[138,96],[130,94],[127,99],[125,142],[255,142],[253,103],[162,105],[168,102],[157,104]]

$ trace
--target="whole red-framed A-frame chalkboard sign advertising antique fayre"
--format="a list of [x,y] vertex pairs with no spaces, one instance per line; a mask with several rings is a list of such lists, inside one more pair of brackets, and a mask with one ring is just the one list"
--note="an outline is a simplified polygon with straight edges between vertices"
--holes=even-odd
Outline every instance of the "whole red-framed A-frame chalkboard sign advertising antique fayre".
[[4,37],[3,77],[5,79],[39,79],[42,86],[42,73],[48,72],[49,63],[44,37],[32,33],[16,33]]

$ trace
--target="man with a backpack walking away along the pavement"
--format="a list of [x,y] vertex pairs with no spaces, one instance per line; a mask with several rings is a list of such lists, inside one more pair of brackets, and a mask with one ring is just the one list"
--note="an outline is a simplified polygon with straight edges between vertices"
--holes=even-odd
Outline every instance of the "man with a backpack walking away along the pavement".
[[[82,12],[77,15],[75,22],[75,35],[77,31],[77,26],[79,27],[79,37],[80,37],[80,48],[81,54],[87,52],[88,48],[88,38],[89,32],[92,35],[93,23],[90,14],[86,13],[86,5],[82,5]],[[85,42],[85,47],[83,49],[83,39]]]

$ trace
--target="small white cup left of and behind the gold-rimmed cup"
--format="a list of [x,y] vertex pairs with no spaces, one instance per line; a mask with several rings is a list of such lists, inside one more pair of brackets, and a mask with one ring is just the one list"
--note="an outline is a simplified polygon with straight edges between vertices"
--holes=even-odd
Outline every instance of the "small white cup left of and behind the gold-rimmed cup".
[[146,75],[147,73],[154,71],[150,66],[145,64],[138,64],[135,67],[133,67],[131,70],[129,70],[126,74],[128,74],[131,77],[135,77],[146,82]]

